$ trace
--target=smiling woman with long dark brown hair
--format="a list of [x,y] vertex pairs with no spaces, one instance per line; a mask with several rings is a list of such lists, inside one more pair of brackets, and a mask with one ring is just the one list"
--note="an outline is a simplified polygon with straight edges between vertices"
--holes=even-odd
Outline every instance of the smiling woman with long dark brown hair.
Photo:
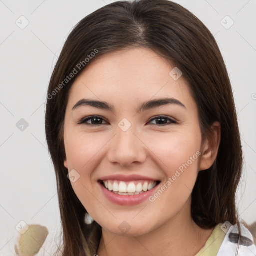
[[255,254],[235,205],[230,80],[180,5],[118,1],[83,18],[52,73],[45,129],[62,255]]

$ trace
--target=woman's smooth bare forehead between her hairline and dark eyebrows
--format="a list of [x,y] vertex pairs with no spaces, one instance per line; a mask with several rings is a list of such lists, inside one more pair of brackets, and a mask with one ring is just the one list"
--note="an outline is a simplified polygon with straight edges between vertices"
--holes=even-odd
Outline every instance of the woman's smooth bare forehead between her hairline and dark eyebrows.
[[183,77],[173,79],[176,67],[150,49],[129,48],[91,61],[73,83],[68,104],[89,97],[130,105],[167,96],[195,104]]

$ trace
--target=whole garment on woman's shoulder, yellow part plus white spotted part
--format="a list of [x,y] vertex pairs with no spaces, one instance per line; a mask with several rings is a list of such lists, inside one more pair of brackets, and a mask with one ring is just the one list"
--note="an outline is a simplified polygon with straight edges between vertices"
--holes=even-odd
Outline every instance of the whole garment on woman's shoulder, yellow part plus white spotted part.
[[218,224],[195,256],[256,256],[253,236],[243,224],[241,224],[240,246],[236,254],[238,238],[237,224],[233,226],[228,221]]

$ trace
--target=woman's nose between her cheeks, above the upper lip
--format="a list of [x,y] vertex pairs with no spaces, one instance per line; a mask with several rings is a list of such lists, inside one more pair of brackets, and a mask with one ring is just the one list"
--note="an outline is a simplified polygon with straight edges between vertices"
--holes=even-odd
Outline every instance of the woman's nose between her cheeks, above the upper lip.
[[116,134],[109,144],[108,160],[121,166],[144,162],[146,159],[146,146],[142,141],[141,135],[135,131],[132,125],[126,131],[117,127]]

